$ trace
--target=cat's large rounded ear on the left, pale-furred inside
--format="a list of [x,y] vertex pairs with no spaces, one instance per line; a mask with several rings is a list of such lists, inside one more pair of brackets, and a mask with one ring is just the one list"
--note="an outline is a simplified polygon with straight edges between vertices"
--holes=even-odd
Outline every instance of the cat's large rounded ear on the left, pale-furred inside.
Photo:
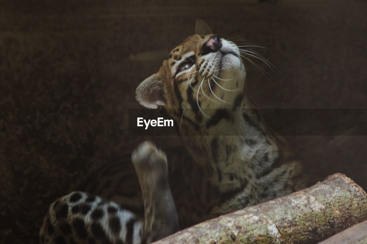
[[163,83],[158,74],[150,75],[143,80],[136,89],[137,101],[146,108],[158,108],[166,106],[164,98]]

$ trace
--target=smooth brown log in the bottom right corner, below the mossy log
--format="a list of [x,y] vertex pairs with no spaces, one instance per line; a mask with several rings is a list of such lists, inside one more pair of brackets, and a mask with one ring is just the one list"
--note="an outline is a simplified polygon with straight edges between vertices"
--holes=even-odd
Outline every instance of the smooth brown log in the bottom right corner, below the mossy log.
[[335,234],[319,244],[366,244],[367,243],[367,220]]

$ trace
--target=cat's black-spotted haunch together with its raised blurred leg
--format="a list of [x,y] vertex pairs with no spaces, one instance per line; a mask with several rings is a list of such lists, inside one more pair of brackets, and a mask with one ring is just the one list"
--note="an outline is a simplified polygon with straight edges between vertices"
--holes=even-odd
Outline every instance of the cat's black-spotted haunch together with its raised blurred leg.
[[168,185],[166,155],[144,142],[133,152],[132,162],[144,200],[143,218],[110,200],[72,192],[51,204],[40,243],[140,244],[176,232],[178,218]]

